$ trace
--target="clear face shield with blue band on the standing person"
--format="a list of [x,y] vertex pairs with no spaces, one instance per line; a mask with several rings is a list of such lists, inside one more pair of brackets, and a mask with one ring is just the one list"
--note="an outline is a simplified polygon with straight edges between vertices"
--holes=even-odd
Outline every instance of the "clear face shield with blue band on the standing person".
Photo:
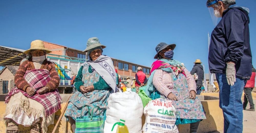
[[218,18],[221,17],[220,12],[218,11],[220,9],[218,6],[218,1],[221,1],[221,0],[214,0],[211,3],[207,4],[214,26],[217,25]]

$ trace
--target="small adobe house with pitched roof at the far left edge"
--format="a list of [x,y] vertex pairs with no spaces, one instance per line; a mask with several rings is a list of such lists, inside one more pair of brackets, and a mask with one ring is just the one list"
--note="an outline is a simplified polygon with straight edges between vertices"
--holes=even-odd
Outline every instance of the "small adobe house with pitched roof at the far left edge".
[[0,72],[0,94],[7,94],[15,86],[14,75],[18,68],[19,66],[8,65]]

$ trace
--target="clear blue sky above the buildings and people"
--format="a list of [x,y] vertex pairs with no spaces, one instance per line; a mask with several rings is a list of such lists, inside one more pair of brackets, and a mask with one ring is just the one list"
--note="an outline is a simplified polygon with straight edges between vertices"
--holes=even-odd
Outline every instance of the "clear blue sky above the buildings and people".
[[[256,1],[236,0],[250,9],[250,43],[256,50]],[[160,42],[175,43],[174,59],[190,71],[201,59],[208,73],[212,19],[206,0],[1,0],[0,45],[29,49],[30,42],[86,48],[90,37],[107,46],[103,54],[151,66]],[[256,59],[253,58],[256,66]]]

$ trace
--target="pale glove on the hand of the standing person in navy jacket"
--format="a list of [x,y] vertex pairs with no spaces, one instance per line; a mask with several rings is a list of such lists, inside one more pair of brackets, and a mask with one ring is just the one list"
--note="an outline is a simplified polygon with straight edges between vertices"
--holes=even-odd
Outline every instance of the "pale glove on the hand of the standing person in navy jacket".
[[228,85],[233,86],[234,83],[236,82],[235,63],[233,63],[233,62],[227,63],[226,77],[227,77]]

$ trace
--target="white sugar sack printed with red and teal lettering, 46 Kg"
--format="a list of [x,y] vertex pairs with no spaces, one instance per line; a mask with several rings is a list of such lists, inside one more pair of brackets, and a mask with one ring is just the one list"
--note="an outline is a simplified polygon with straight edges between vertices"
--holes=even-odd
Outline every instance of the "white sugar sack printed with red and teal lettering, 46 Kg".
[[157,98],[149,101],[143,111],[146,117],[143,133],[179,133],[175,112],[171,100]]

